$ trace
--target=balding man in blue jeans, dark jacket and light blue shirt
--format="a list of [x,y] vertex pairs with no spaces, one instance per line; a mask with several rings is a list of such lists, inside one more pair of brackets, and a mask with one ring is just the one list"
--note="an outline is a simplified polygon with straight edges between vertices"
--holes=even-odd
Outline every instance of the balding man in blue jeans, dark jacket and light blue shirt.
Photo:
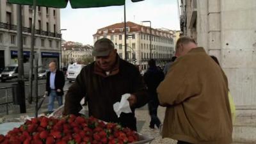
[[52,112],[54,109],[54,101],[57,99],[58,105],[61,106],[62,96],[64,94],[63,87],[65,85],[65,76],[63,72],[57,70],[56,63],[51,62],[49,64],[49,72],[47,72],[46,79],[46,92],[49,97],[48,111]]

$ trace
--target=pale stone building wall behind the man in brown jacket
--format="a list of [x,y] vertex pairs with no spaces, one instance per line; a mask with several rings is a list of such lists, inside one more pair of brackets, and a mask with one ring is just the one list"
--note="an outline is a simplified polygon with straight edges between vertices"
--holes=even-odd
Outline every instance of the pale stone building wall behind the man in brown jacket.
[[234,143],[256,143],[256,1],[182,0],[180,29],[214,55],[236,104]]

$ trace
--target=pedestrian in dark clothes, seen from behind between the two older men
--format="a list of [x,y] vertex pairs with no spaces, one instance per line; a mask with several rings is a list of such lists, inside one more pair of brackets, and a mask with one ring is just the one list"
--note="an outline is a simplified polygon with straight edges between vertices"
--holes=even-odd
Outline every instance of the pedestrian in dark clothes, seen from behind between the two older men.
[[159,100],[157,97],[156,88],[163,81],[164,73],[156,66],[156,61],[151,59],[148,61],[148,70],[144,74],[144,81],[148,87],[149,102],[148,102],[148,111],[150,115],[150,125],[151,129],[155,128],[155,125],[159,128],[161,122],[157,117],[157,108],[159,106]]

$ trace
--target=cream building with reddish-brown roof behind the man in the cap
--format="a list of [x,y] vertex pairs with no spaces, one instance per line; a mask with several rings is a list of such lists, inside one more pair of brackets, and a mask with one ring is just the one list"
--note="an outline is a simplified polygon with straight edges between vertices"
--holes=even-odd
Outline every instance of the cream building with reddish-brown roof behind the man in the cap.
[[[145,70],[150,59],[150,28],[134,22],[127,22],[127,61],[139,65]],[[151,58],[159,65],[170,60],[173,55],[173,32],[168,29],[153,29],[151,39]],[[120,58],[124,59],[124,22],[100,28],[93,35],[93,41],[109,38],[117,49]]]

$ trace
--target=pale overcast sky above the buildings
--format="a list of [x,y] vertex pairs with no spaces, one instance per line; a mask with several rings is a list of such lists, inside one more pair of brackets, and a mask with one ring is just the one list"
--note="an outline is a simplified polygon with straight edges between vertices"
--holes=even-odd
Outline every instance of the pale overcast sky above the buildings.
[[[179,30],[177,8],[177,0],[126,0],[126,21],[141,24],[142,20],[151,20],[152,28]],[[82,44],[92,45],[97,29],[123,21],[124,6],[72,9],[68,4],[61,9],[61,29],[67,29],[62,31],[63,39]]]

